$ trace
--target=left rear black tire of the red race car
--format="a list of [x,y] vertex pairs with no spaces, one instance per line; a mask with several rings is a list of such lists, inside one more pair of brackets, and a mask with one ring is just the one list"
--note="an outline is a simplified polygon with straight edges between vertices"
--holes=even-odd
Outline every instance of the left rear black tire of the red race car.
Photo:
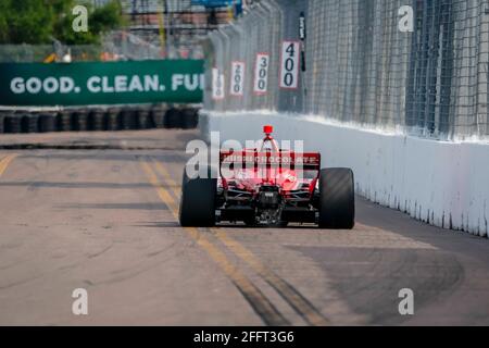
[[212,227],[215,225],[216,189],[216,178],[189,178],[184,171],[179,209],[181,226]]

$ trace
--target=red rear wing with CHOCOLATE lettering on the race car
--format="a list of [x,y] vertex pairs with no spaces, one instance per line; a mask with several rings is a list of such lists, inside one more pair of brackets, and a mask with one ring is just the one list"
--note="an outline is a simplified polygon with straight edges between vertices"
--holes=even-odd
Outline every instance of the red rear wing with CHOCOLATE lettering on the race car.
[[283,167],[291,170],[319,171],[321,153],[291,151],[221,151],[221,166],[233,169]]

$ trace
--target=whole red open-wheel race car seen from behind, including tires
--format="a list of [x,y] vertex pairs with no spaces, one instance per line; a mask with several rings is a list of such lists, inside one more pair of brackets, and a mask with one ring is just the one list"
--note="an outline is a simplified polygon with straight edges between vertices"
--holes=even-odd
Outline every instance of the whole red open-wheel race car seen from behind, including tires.
[[205,169],[206,177],[190,178],[185,171],[180,225],[308,223],[321,228],[353,228],[353,172],[322,170],[319,153],[280,150],[272,126],[265,126],[264,133],[260,149],[222,150],[218,170]]

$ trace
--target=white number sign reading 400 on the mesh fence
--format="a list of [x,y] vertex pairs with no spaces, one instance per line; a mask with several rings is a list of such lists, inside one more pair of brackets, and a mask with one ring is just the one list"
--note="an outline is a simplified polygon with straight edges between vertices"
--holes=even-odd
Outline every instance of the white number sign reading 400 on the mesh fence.
[[300,42],[284,41],[281,44],[280,88],[299,87]]

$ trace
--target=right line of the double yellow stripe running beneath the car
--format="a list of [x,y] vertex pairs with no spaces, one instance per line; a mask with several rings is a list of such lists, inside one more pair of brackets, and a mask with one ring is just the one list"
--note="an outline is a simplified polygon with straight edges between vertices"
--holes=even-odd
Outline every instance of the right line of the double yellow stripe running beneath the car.
[[[164,177],[165,182],[172,188],[174,195],[179,197],[175,181],[171,177],[168,171],[160,163],[153,162],[158,172]],[[314,308],[299,291],[297,291],[287,282],[281,279],[274,271],[267,268],[251,250],[247,249],[242,244],[229,237],[221,228],[210,228],[211,232],[227,246],[233,252],[247,262],[251,269],[260,274],[283,298],[298,312],[310,325],[329,325],[330,322]]]

